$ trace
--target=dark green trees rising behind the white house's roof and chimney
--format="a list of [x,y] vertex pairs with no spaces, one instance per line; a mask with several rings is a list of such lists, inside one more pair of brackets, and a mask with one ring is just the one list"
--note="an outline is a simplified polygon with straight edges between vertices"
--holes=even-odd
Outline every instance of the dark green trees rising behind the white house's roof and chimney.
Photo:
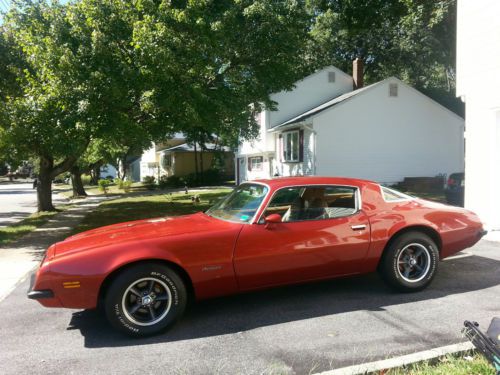
[[394,75],[463,115],[455,97],[456,0],[309,0],[315,17],[309,56],[349,72],[365,62],[365,82]]

